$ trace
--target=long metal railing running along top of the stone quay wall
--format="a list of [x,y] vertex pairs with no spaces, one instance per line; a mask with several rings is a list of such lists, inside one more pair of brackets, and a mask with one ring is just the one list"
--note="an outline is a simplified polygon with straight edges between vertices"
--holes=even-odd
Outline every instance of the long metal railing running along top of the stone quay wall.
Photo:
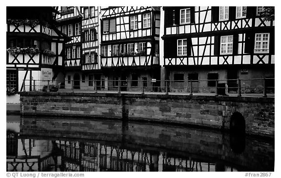
[[[274,87],[266,86],[266,82],[269,80],[274,80],[274,78],[154,81],[120,80],[120,78],[118,80],[23,80],[21,91],[26,91],[26,86],[29,86],[30,91],[43,90],[50,92],[55,86],[55,88],[59,88],[60,90],[65,89],[71,92],[77,91],[77,89],[79,89],[79,92],[87,91],[97,93],[101,90],[104,92],[114,91],[117,93],[134,91],[141,92],[141,94],[145,92],[164,92],[167,95],[174,92],[183,92],[193,95],[196,92],[215,93],[215,96],[226,95],[228,92],[231,92],[237,93],[237,96],[241,96],[242,93],[260,93],[263,97],[267,97],[267,94],[274,93],[275,89]],[[26,81],[28,81],[29,85],[25,84]],[[256,84],[250,86],[249,83],[252,84],[254,81],[256,81]],[[241,82],[243,82],[243,85],[241,85]]]

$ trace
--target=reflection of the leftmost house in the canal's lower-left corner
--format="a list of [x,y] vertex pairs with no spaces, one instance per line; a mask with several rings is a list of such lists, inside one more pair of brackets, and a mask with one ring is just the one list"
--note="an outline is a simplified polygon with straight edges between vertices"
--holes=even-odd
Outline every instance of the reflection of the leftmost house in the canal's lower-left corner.
[[18,138],[18,133],[7,132],[6,171],[59,171],[60,163],[51,140]]

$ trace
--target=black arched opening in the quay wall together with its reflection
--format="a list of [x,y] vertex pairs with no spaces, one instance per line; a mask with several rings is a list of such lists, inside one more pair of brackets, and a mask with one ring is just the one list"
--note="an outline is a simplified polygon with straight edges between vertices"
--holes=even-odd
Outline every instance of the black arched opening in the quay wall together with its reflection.
[[234,112],[230,118],[230,147],[236,154],[245,150],[245,119],[240,112]]

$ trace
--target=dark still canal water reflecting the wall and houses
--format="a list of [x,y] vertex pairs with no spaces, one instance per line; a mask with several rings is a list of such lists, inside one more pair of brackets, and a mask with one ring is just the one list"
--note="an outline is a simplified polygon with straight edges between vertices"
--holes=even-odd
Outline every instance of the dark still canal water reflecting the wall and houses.
[[7,171],[274,171],[274,140],[152,123],[7,115]]

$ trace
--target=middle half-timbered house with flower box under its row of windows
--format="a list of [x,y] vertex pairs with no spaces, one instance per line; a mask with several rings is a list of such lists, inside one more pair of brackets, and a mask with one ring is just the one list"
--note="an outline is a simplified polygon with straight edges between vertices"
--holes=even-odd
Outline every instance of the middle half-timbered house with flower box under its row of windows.
[[156,89],[149,81],[160,79],[160,8],[102,8],[100,21],[100,67],[108,89],[117,89],[118,80],[123,90],[140,90],[141,80],[145,90]]

